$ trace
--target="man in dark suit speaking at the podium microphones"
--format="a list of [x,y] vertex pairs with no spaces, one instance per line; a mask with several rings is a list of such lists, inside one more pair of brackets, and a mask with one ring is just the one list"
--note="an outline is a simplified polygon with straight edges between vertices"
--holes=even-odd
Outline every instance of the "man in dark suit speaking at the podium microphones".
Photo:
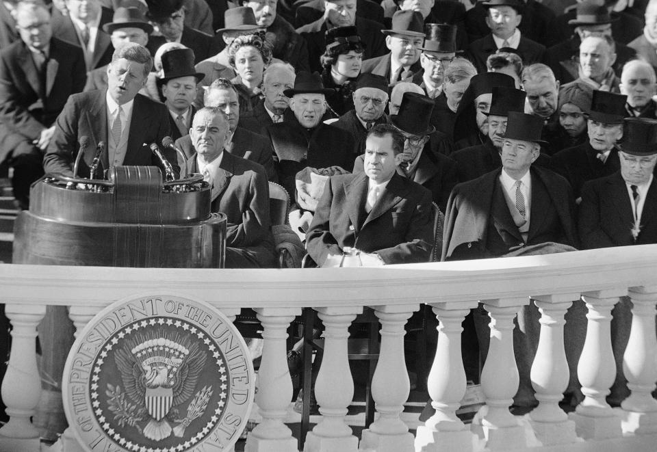
[[[77,176],[90,177],[90,167],[101,142],[100,165],[93,178],[118,165],[159,166],[162,163],[149,147],[162,144],[170,135],[168,111],[164,105],[138,94],[151,72],[153,58],[140,44],[120,46],[107,66],[107,90],[73,94],[55,122],[55,133],[43,160],[46,173],[73,176],[73,164],[82,137],[83,149]],[[162,148],[164,157],[179,173],[175,151]]]

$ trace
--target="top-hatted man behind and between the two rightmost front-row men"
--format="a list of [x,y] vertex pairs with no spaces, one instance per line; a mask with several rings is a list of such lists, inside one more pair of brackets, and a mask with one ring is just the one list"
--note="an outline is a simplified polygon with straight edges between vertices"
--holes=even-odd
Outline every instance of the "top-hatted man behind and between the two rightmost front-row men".
[[588,141],[552,156],[552,169],[567,179],[576,199],[580,198],[585,182],[619,170],[616,144],[623,137],[627,98],[621,94],[594,90],[587,120]]

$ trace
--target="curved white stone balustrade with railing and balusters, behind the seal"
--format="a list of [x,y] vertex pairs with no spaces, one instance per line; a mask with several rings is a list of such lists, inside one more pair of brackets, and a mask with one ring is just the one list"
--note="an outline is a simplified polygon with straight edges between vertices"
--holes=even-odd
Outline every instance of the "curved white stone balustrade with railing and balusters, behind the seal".
[[[285,362],[289,323],[311,307],[324,323],[324,359],[315,384],[322,420],[305,452],[654,451],[657,444],[657,245],[459,263],[393,265],[383,269],[134,269],[0,265],[0,303],[12,323],[12,348],[1,395],[10,421],[0,428],[0,451],[40,450],[31,424],[40,396],[36,327],[46,306],[68,306],[77,332],[101,308],[143,295],[202,300],[234,319],[255,308],[263,327],[256,402],[261,422],[248,452],[292,452],[285,425],[292,383]],[[605,401],[616,374],[610,320],[621,297],[632,303],[623,371],[630,396],[621,408]],[[584,303],[587,331],[577,367],[584,400],[567,415],[558,403],[569,381],[565,313]],[[402,421],[409,396],[404,369],[404,324],[420,304],[439,321],[428,393],[435,414],[415,434]],[[461,323],[482,304],[491,319],[491,345],[482,371],[487,404],[472,425],[456,417],[465,393]],[[514,356],[514,319],[534,304],[540,338],[531,368],[539,406],[523,417],[509,411],[520,381]],[[381,354],[372,381],[376,421],[359,439],[345,416],[353,396],[347,361],[348,327],[364,306],[381,323]],[[64,452],[82,450],[64,432]]]

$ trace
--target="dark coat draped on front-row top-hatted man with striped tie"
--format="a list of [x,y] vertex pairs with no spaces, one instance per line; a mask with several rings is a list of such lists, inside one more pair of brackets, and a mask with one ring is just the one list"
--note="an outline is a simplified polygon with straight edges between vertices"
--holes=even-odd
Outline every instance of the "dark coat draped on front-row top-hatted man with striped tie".
[[508,211],[498,181],[501,171],[454,187],[443,229],[443,261],[499,257],[549,241],[578,246],[575,202],[563,177],[532,165],[530,228],[525,242]]

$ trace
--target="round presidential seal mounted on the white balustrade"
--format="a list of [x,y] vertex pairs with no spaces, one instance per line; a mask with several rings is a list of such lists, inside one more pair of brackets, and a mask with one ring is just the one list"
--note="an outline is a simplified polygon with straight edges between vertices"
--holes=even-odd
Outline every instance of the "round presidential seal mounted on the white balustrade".
[[222,451],[255,393],[244,339],[181,297],[116,302],[86,325],[64,367],[64,411],[87,451]]

